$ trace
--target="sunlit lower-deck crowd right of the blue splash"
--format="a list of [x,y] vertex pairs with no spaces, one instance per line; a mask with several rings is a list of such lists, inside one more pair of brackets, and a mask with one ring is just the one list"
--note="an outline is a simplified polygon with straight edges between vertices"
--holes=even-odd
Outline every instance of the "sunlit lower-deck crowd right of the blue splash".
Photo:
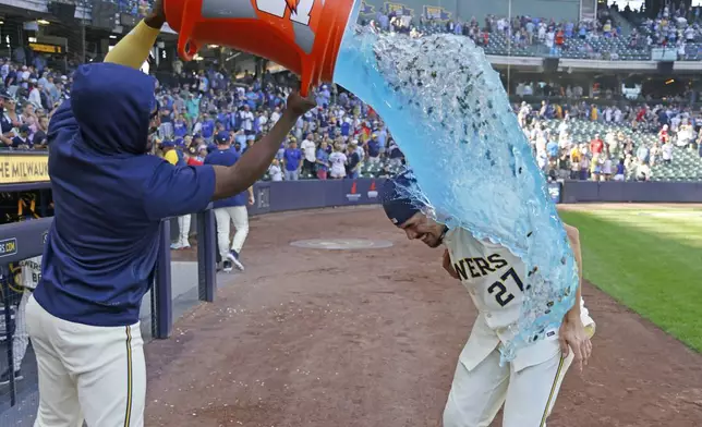
[[699,149],[702,156],[702,118],[689,108],[601,110],[544,101],[537,110],[525,102],[516,110],[538,167],[552,180],[650,181],[657,163],[674,163],[675,152]]

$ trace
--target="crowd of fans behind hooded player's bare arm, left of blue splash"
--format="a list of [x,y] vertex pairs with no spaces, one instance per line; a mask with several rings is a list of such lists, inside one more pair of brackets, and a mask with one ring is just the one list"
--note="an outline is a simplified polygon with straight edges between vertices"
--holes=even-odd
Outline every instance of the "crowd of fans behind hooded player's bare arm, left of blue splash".
[[[274,81],[270,74],[230,81],[203,71],[183,76],[174,87],[160,87],[156,146],[181,150],[189,164],[202,162],[215,138],[229,138],[232,149],[243,154],[278,121],[292,90]],[[269,169],[271,181],[356,178],[364,164],[391,173],[402,164],[402,152],[371,107],[336,85],[322,86],[315,96],[318,107],[300,118],[281,144]]]

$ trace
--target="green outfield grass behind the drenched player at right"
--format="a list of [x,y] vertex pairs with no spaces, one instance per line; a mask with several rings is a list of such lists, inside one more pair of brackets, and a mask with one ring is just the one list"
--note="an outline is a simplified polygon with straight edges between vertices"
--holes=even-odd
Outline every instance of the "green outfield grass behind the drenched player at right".
[[580,230],[584,277],[702,351],[702,210],[561,211]]

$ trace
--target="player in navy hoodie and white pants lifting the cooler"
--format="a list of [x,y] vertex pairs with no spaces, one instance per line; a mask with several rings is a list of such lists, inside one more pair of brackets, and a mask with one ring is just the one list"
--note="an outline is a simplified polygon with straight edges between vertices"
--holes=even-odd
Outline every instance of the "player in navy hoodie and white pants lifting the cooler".
[[71,99],[49,125],[56,215],[26,310],[38,362],[37,426],[143,425],[138,318],[161,219],[245,191],[314,107],[291,95],[281,120],[232,167],[179,167],[152,156],[155,81],[138,69],[164,22],[159,0],[105,63],[81,65]]

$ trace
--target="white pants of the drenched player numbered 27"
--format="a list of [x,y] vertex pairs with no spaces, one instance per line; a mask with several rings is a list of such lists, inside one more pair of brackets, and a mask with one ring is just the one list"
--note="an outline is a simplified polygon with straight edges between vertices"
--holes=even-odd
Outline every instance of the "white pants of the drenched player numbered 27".
[[558,352],[520,371],[510,363],[499,366],[499,356],[494,350],[473,370],[458,362],[444,427],[488,427],[503,404],[503,427],[546,426],[573,353],[561,357]]

